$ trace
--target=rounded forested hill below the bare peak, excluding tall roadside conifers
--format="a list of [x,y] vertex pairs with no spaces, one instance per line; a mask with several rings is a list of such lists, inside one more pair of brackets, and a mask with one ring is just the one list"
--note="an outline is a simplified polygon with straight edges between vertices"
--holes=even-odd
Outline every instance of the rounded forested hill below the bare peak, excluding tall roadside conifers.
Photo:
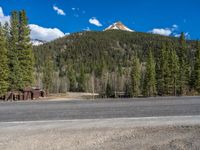
[[[51,92],[92,92],[94,87],[95,92],[105,93],[108,83],[116,91],[125,91],[131,81],[129,74],[134,55],[137,53],[144,71],[149,50],[158,61],[166,43],[169,50],[180,54],[180,42],[175,37],[122,30],[70,34],[33,47],[37,82],[43,80],[45,60],[50,58],[54,76]],[[195,42],[187,41],[188,62],[194,62],[194,52]]]

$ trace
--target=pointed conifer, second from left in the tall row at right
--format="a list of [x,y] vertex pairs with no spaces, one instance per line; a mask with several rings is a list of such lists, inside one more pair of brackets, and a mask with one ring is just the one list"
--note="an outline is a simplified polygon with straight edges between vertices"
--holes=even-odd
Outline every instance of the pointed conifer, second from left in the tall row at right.
[[146,62],[146,72],[144,79],[144,95],[145,96],[155,96],[157,94],[156,91],[156,72],[155,72],[155,62],[154,57],[149,51],[147,62]]

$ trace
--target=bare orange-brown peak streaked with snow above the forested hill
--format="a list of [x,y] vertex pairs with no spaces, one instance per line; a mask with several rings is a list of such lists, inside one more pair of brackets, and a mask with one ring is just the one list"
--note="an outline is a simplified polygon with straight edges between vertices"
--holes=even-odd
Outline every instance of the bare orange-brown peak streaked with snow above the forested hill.
[[118,21],[109,27],[107,27],[104,31],[107,30],[122,30],[122,31],[129,31],[129,32],[134,32],[134,30],[129,29],[127,26],[125,26],[122,22]]

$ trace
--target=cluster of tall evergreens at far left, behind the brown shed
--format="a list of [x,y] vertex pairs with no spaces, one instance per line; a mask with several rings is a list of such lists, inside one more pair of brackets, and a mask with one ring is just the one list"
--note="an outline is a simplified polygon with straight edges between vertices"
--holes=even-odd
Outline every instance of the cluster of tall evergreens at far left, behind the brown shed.
[[0,24],[0,96],[32,86],[34,71],[26,12],[13,11],[10,22]]

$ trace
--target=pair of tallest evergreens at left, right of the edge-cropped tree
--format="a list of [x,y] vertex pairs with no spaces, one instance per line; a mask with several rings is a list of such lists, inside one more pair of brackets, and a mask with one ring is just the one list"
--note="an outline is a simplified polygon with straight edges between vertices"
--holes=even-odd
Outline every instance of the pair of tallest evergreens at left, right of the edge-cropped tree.
[[6,53],[9,68],[8,89],[15,91],[32,86],[34,81],[34,55],[30,44],[30,30],[25,11],[13,11],[10,25],[5,23],[2,30],[5,48],[8,51]]

